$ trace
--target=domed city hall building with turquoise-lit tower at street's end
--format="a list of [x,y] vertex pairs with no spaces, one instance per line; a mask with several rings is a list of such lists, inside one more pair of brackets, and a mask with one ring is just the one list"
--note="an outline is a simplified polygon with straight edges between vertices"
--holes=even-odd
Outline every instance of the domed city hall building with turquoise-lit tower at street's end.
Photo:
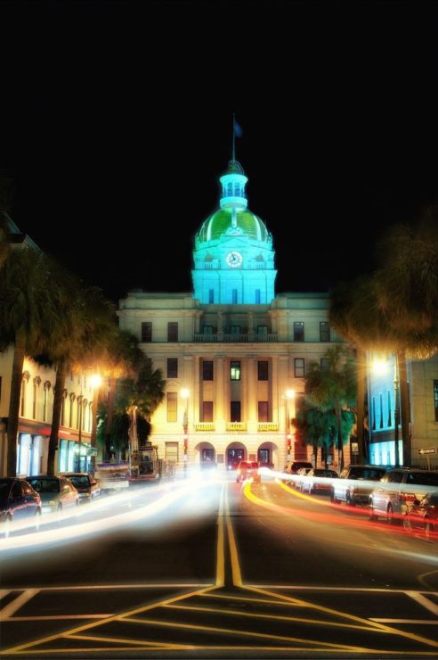
[[282,470],[311,458],[291,420],[309,365],[342,339],[328,326],[328,293],[276,295],[272,235],[247,208],[238,161],[220,182],[219,209],[195,236],[193,292],[131,291],[120,327],[166,378],[151,419],[160,457],[223,470],[247,458]]

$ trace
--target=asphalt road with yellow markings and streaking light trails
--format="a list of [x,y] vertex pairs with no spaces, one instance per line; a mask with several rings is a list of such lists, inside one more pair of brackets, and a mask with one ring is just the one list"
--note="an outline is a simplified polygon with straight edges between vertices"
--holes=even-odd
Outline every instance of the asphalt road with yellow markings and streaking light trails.
[[283,484],[183,480],[1,539],[1,654],[438,656],[438,543]]

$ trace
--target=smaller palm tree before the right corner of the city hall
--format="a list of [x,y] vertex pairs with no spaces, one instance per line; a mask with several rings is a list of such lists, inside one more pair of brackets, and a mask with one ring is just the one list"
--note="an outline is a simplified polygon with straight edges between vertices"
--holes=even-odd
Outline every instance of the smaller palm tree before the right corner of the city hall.
[[[307,400],[323,412],[334,410],[337,423],[337,450],[339,470],[344,467],[343,409],[356,403],[356,373],[353,356],[344,347],[335,346],[325,354],[327,366],[314,363],[305,377]],[[351,425],[353,426],[353,424]],[[350,427],[351,428],[351,427]]]

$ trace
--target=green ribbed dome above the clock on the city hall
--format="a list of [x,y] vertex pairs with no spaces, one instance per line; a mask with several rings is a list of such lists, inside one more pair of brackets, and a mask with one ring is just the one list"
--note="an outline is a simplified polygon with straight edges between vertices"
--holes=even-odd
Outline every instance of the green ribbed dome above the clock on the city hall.
[[231,209],[221,209],[207,218],[199,229],[199,241],[215,241],[223,234],[246,235],[256,241],[268,241],[269,234],[262,219],[250,210],[236,210],[237,227],[232,227],[231,213]]

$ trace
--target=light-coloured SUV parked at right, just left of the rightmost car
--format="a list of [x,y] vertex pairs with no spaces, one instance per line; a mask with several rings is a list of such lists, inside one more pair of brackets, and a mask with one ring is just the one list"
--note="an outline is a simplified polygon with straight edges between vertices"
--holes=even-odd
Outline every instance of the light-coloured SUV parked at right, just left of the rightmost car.
[[369,496],[369,517],[385,517],[386,522],[401,522],[409,504],[422,499],[431,486],[438,489],[438,472],[410,467],[388,470]]

